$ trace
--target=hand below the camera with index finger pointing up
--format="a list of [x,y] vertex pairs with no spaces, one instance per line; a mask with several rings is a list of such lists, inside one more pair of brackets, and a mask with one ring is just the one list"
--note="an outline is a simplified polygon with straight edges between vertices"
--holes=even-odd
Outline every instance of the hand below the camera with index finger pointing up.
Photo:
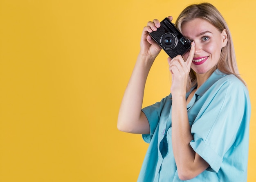
[[190,72],[190,66],[194,57],[195,43],[192,42],[189,56],[184,61],[181,55],[177,55],[171,59],[168,57],[169,70],[172,74],[171,93],[172,95],[179,94],[184,96],[186,94],[186,84]]

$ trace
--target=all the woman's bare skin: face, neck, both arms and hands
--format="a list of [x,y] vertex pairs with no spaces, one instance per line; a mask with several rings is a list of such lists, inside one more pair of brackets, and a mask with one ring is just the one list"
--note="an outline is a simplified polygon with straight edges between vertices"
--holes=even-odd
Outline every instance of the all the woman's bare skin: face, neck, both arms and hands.
[[[173,20],[171,16],[169,20]],[[196,26],[195,26],[196,25]],[[160,26],[159,20],[148,22],[141,35],[141,50],[124,93],[119,110],[117,127],[123,132],[149,134],[148,120],[141,112],[144,88],[148,72],[161,51],[161,47],[149,36]],[[193,27],[193,29],[191,29]],[[168,58],[169,70],[172,74],[172,144],[178,175],[181,180],[189,180],[209,167],[190,147],[193,139],[189,125],[186,105],[195,90],[186,100],[186,82],[190,68],[197,75],[198,88],[206,81],[217,64],[221,48],[227,44],[226,30],[218,31],[209,22],[195,18],[182,25],[182,33],[193,40],[189,53]],[[194,62],[193,62],[194,60]],[[195,62],[199,60],[201,62]]]

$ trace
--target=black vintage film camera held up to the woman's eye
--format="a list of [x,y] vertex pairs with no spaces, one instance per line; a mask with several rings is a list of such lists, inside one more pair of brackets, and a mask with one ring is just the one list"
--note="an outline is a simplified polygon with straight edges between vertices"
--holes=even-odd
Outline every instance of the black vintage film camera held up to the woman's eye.
[[191,42],[183,37],[168,18],[161,22],[157,31],[149,34],[171,58],[183,55],[191,48]]

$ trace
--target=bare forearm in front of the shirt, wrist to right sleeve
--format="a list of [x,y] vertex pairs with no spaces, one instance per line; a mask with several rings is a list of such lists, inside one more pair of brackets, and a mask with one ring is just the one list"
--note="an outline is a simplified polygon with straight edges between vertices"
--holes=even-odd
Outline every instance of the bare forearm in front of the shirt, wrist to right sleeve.
[[189,145],[192,139],[185,95],[173,96],[172,145],[179,178],[183,180],[194,178],[209,166]]

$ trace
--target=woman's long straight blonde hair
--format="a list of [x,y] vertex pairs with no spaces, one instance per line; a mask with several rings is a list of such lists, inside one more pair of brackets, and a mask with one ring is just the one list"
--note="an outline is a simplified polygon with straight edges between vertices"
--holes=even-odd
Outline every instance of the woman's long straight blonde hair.
[[[243,79],[239,76],[238,67],[236,64],[234,45],[229,28],[221,13],[218,11],[218,9],[216,9],[216,7],[214,7],[210,3],[192,4],[186,7],[182,11],[182,13],[180,13],[179,17],[177,18],[175,26],[179,31],[181,31],[182,23],[189,22],[191,20],[194,20],[195,18],[201,18],[203,20],[206,20],[207,22],[215,26],[216,29],[218,29],[220,32],[226,29],[228,38],[227,45],[222,48],[220,53],[220,59],[216,64],[215,69],[219,69],[221,72],[228,75],[235,75],[246,85],[245,81],[243,81]],[[196,74],[191,69],[187,83],[187,90],[190,90],[196,84]]]

